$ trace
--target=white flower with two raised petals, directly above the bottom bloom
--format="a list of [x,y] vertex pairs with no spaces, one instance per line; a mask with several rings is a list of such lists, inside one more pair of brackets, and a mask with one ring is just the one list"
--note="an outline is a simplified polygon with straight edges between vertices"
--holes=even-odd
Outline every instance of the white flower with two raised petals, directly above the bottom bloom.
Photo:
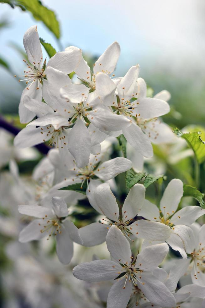
[[[139,214],[145,199],[145,186],[135,184],[129,191],[124,201],[122,209],[119,211],[116,199],[110,190],[109,184],[100,184],[94,192],[88,193],[88,199],[94,209],[108,218],[103,219],[102,223],[92,223],[86,227],[80,228],[80,234],[84,245],[93,246],[103,243],[110,226],[116,225],[130,239],[134,235],[140,239],[160,241],[169,238],[170,228],[159,222],[150,222],[145,219],[136,220],[134,218]],[[106,224],[105,222],[108,222]]]

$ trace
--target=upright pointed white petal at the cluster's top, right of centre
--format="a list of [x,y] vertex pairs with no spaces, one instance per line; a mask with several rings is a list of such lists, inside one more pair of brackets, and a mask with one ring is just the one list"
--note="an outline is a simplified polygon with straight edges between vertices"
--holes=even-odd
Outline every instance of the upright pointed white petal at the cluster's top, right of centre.
[[120,55],[120,46],[118,42],[113,42],[98,58],[94,67],[93,73],[96,75],[97,72],[105,72],[111,74],[116,67],[118,58]]

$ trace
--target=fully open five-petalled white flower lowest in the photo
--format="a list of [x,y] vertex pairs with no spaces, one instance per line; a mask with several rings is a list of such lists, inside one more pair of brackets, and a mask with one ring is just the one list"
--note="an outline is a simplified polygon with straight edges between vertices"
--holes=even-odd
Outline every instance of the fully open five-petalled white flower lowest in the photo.
[[136,285],[149,300],[154,300],[155,305],[176,305],[171,292],[152,275],[169,251],[166,243],[147,247],[133,259],[129,242],[116,226],[112,226],[107,236],[107,247],[114,261],[95,260],[73,269],[73,275],[81,280],[117,280],[108,294],[107,308],[125,308],[132,287]]

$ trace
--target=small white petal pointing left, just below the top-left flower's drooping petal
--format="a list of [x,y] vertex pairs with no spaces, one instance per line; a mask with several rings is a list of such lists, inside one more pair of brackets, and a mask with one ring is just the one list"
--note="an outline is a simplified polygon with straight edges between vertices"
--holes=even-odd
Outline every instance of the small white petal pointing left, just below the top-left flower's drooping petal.
[[28,95],[24,96],[24,106],[35,113],[38,118],[44,116],[47,113],[53,113],[53,109],[50,106],[44,102],[30,98]]

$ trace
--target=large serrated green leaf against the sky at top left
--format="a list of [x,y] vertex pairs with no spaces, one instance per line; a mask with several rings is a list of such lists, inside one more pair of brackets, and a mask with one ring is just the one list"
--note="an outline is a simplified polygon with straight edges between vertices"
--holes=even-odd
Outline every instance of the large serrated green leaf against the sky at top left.
[[25,9],[32,13],[36,20],[41,20],[53,34],[60,37],[59,22],[56,19],[55,13],[46,8],[39,0],[17,0],[17,3],[23,5]]

